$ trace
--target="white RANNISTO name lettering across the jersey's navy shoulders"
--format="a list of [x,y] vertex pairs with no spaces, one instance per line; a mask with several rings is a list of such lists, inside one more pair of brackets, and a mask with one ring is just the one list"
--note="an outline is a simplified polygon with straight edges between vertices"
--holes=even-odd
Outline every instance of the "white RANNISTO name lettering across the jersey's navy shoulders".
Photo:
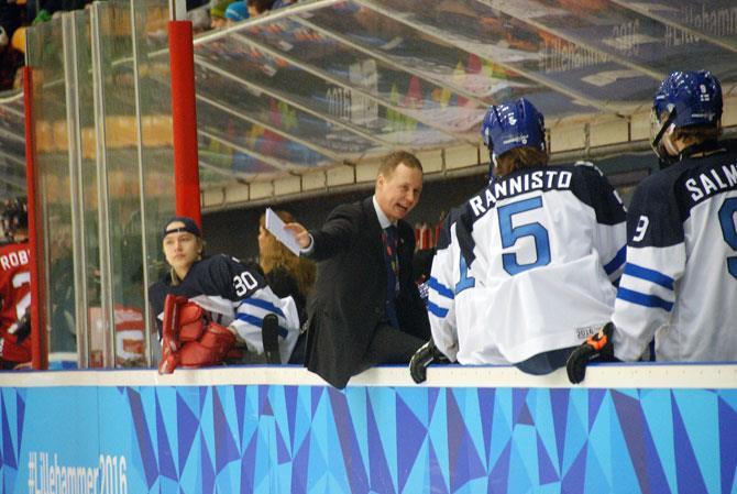
[[479,218],[499,199],[506,199],[530,190],[569,189],[572,172],[561,169],[538,169],[513,177],[502,178],[486,187],[484,191],[469,199],[473,215]]

